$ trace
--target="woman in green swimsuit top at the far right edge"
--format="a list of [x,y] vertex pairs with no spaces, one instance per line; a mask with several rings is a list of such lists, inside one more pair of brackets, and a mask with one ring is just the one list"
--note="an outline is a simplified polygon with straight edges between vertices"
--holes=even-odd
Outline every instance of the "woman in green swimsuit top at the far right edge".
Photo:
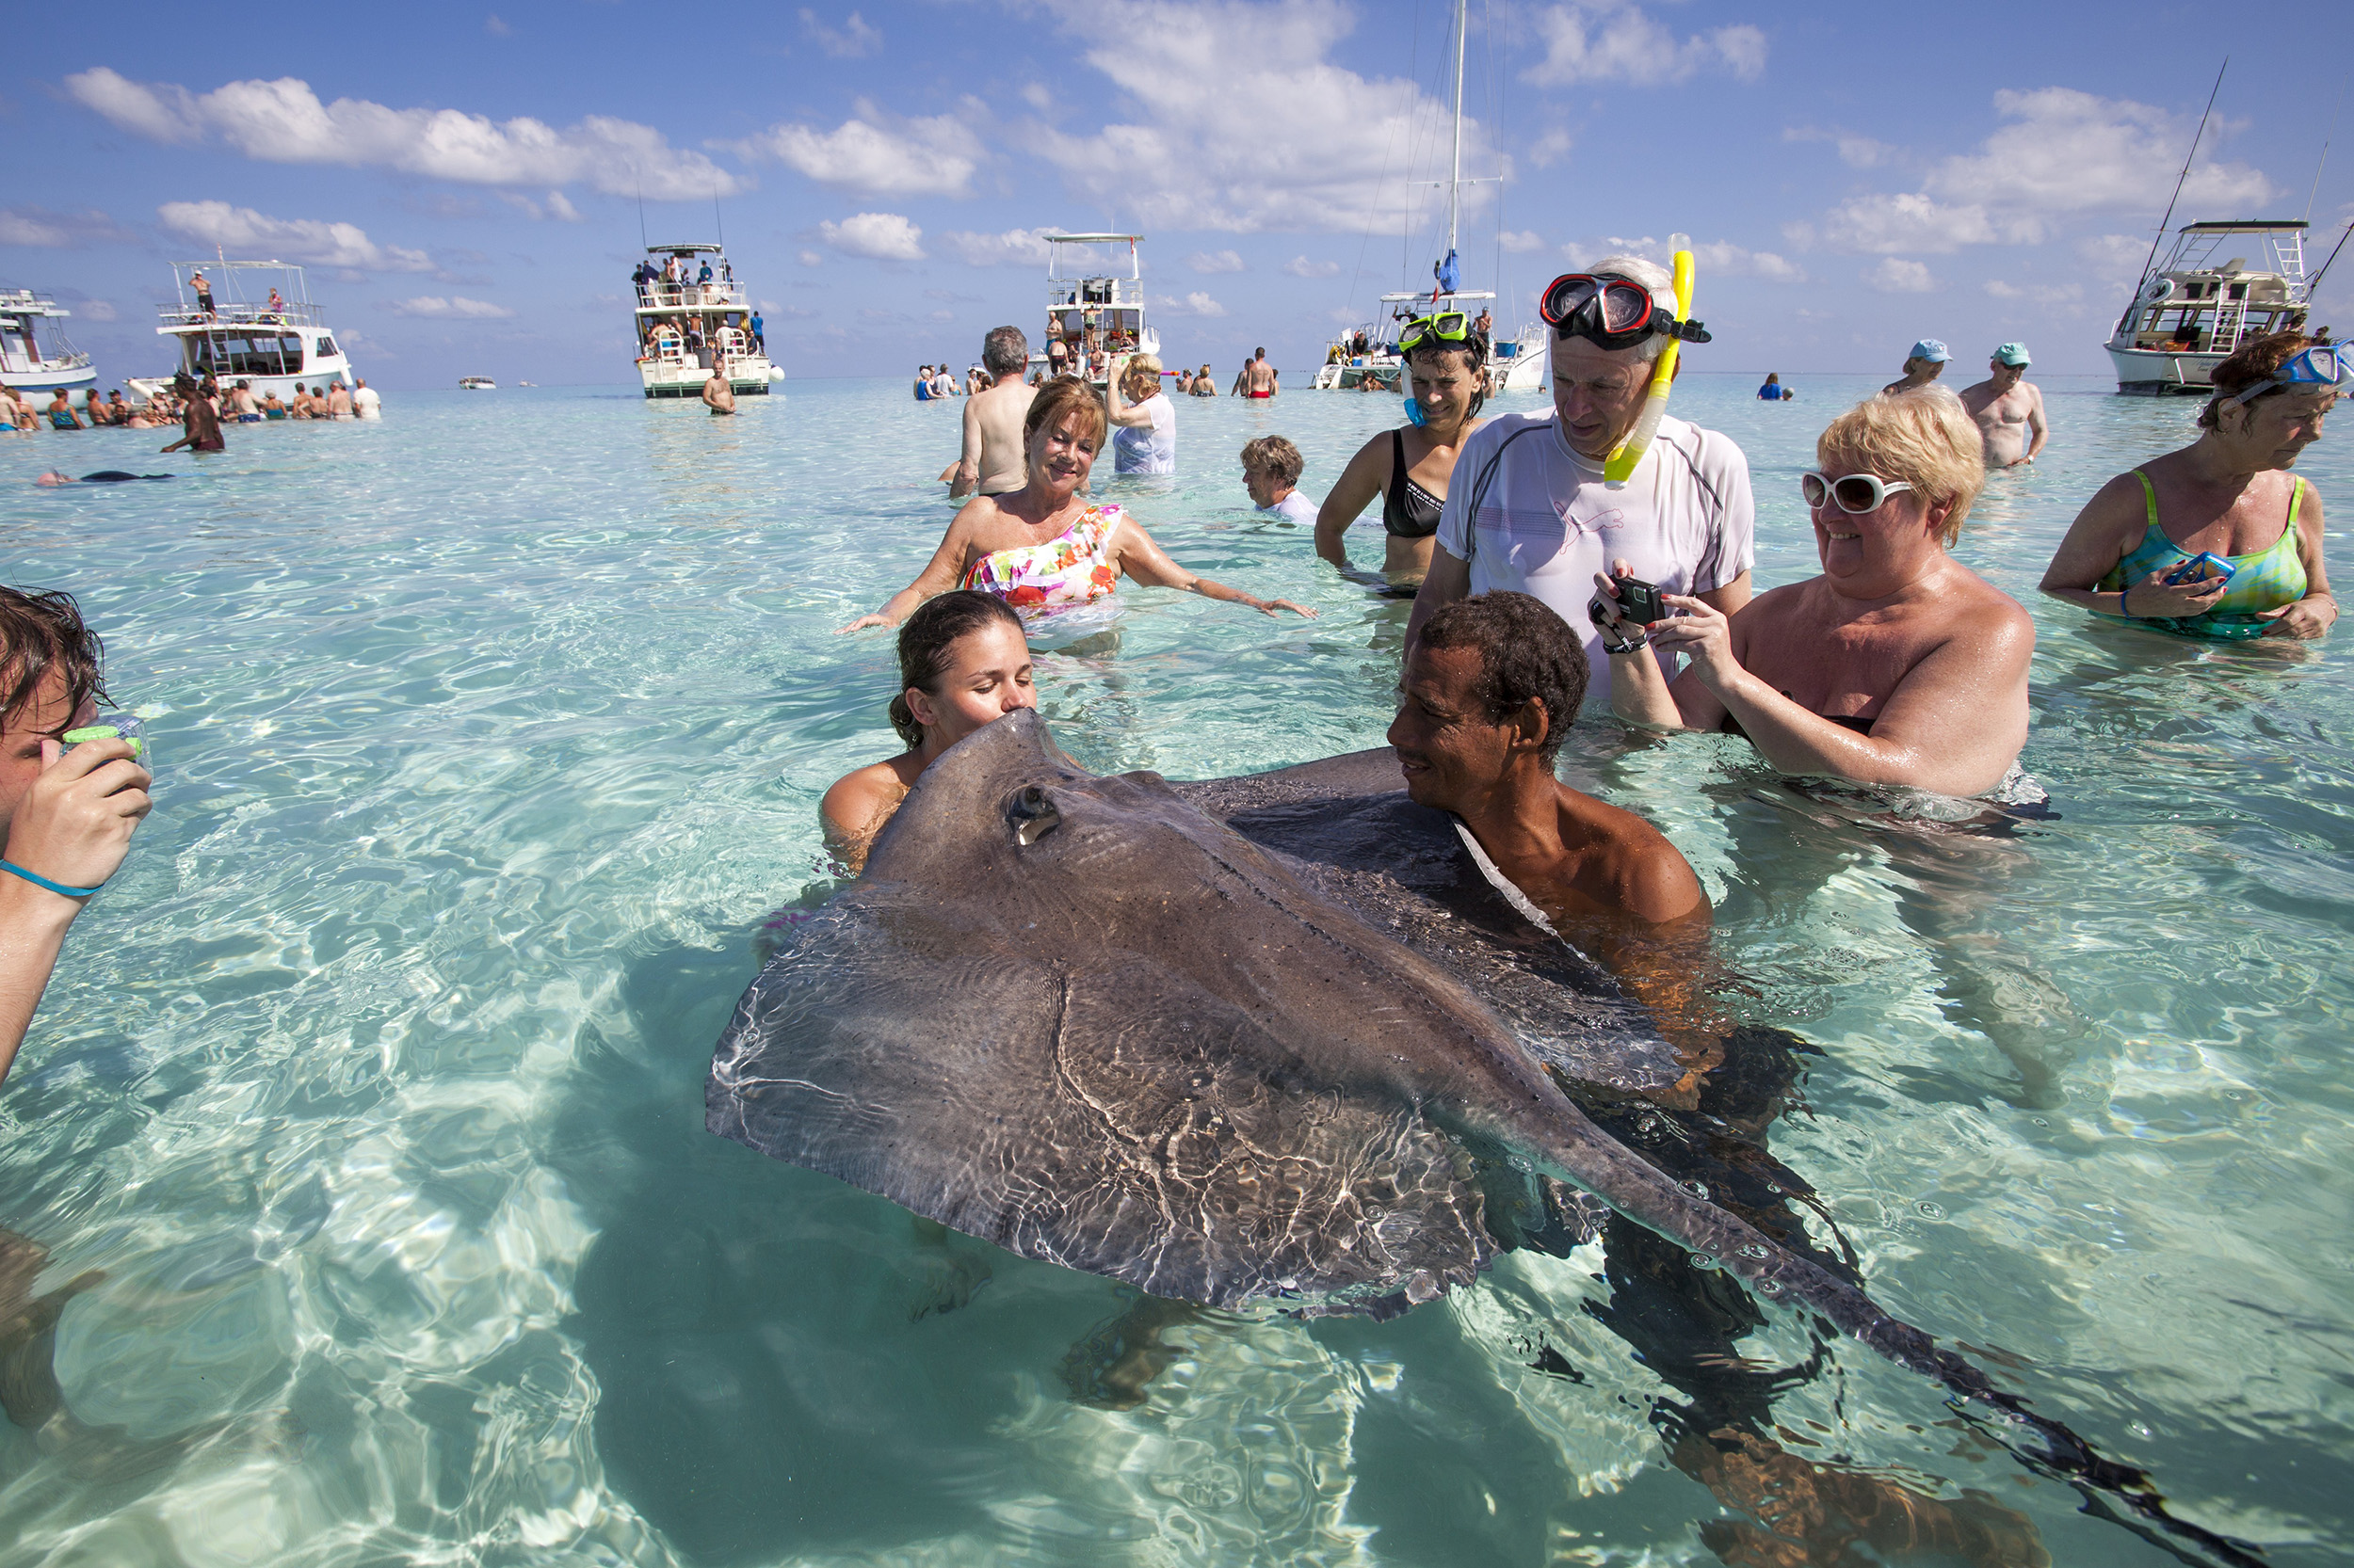
[[[2338,624],[2321,492],[2290,473],[2354,379],[2354,351],[2274,332],[2208,379],[2199,440],[2100,487],[2043,591],[2177,638],[2319,638]],[[2206,563],[2220,556],[2229,572]]]

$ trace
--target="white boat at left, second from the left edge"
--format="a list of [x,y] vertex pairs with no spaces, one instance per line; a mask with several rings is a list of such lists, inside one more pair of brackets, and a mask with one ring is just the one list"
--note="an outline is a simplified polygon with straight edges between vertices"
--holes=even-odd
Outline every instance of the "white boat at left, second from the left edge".
[[[195,273],[207,273],[210,308],[207,294],[188,287]],[[162,306],[155,334],[179,341],[179,372],[195,381],[212,377],[224,391],[247,381],[254,398],[358,381],[292,261],[174,261],[172,292],[179,301]],[[132,377],[125,386],[153,398],[172,377]]]

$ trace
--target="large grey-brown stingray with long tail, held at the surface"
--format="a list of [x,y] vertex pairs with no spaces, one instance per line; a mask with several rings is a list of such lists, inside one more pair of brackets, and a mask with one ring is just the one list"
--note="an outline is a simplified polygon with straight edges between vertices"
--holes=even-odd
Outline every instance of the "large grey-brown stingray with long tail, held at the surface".
[[1205,1307],[1401,1307],[1471,1283],[1537,1180],[1575,1187],[2163,1514],[1857,1283],[1596,1125],[1676,1052],[1387,751],[1099,777],[1036,711],[946,751],[866,873],[737,1003],[709,1128],[1022,1257]]

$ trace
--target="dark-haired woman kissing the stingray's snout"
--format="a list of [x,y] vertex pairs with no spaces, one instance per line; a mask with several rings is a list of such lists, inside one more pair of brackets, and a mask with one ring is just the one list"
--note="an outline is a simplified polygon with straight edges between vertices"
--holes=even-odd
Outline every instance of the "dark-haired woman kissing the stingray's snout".
[[899,687],[890,723],[906,751],[836,779],[817,805],[826,850],[852,876],[942,751],[1015,709],[1038,706],[1022,617],[993,593],[927,598],[899,629]]

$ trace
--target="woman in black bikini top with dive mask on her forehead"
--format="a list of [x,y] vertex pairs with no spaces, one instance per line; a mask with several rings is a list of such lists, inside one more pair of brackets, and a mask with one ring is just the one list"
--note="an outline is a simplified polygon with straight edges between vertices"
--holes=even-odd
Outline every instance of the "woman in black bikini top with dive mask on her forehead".
[[[1342,539],[1375,501],[1382,504],[1382,574],[1391,586],[1419,586],[1431,570],[1431,539],[1448,504],[1455,454],[1481,428],[1478,410],[1488,344],[1462,311],[1424,315],[1398,334],[1398,370],[1408,386],[1408,421],[1368,440],[1316,513],[1316,553],[1349,572]],[[1365,386],[1375,381],[1365,372]]]

